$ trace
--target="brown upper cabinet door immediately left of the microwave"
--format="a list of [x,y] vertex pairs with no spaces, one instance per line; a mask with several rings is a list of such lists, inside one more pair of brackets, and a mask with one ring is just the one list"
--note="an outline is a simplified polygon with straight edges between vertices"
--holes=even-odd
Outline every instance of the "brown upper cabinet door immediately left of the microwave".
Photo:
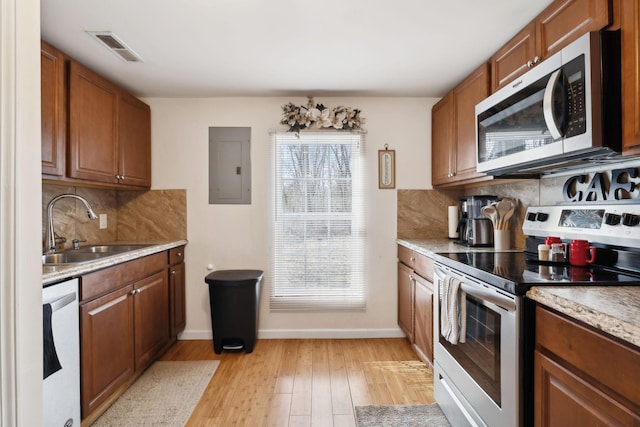
[[453,90],[455,160],[453,180],[485,176],[476,172],[476,104],[489,95],[489,65],[483,64]]

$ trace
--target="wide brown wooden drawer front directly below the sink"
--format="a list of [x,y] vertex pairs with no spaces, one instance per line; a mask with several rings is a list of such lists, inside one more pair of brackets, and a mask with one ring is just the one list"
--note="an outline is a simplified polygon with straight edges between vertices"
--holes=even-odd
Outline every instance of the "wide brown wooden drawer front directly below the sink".
[[163,251],[85,274],[80,280],[80,301],[85,302],[104,295],[165,268],[167,268],[167,252]]

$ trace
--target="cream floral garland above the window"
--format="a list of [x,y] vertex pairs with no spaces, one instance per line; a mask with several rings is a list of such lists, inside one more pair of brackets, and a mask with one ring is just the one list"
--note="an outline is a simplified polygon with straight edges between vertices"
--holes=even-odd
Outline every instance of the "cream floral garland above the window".
[[314,106],[313,97],[309,97],[307,106],[296,106],[292,102],[282,106],[280,124],[289,126],[289,132],[300,132],[302,129],[334,128],[337,130],[360,130],[364,118],[360,110],[349,107],[336,107],[329,110],[322,104]]

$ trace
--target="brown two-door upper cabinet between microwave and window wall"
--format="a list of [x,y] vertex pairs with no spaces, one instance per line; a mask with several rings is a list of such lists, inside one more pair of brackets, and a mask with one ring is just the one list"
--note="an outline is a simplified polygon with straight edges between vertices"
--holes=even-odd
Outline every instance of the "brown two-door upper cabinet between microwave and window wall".
[[447,187],[491,179],[476,172],[475,106],[489,95],[489,65],[482,64],[432,110],[432,184]]

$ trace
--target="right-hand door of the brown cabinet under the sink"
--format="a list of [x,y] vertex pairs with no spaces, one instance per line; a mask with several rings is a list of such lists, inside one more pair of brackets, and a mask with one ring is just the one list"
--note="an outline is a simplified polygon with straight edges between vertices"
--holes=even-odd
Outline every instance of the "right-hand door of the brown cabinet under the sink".
[[169,342],[166,270],[134,284],[135,369],[143,369]]

